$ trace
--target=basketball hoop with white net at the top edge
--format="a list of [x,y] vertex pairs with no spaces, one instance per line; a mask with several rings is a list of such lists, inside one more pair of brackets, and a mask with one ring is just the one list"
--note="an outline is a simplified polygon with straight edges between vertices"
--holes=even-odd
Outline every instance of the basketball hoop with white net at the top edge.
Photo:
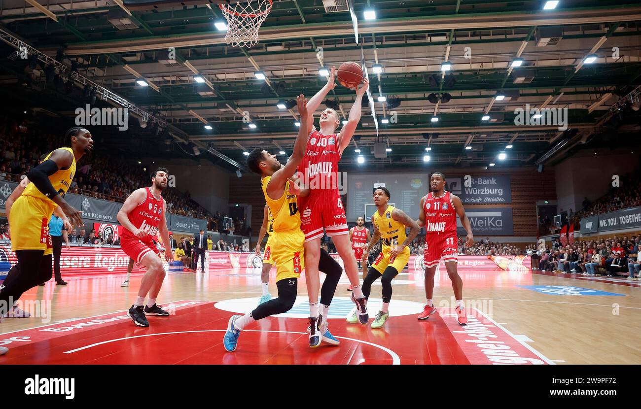
[[251,47],[258,43],[258,29],[272,10],[272,3],[273,0],[232,0],[219,4],[227,20],[227,44]]

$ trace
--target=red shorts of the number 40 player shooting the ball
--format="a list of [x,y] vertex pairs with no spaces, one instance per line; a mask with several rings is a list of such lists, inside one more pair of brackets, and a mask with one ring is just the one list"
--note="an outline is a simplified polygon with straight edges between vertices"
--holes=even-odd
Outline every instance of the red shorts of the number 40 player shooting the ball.
[[323,228],[329,237],[349,234],[338,190],[312,190],[310,196],[301,199],[301,230],[306,242],[321,238]]

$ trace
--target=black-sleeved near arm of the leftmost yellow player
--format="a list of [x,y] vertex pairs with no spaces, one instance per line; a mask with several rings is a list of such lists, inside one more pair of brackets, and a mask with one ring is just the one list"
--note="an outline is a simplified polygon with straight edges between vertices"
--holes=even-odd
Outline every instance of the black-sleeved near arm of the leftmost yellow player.
[[51,184],[49,176],[60,170],[69,169],[74,161],[74,155],[67,151],[67,149],[56,149],[49,155],[49,159],[37,165],[27,174],[29,181],[40,190],[44,196],[49,197],[56,205],[62,208],[62,211],[69,216],[71,223],[74,226],[82,224],[82,216],[78,210],[69,206],[65,199],[60,196],[60,192]]

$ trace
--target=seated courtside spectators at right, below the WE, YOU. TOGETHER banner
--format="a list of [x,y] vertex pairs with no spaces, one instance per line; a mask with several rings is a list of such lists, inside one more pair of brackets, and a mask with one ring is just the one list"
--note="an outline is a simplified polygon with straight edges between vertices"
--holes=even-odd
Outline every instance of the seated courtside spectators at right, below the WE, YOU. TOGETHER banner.
[[[595,276],[626,275],[638,280],[641,263],[638,261],[641,236],[576,240],[565,246],[533,251],[538,269],[555,273],[574,273]],[[533,268],[537,269],[537,268]],[[635,275],[636,274],[636,275]]]

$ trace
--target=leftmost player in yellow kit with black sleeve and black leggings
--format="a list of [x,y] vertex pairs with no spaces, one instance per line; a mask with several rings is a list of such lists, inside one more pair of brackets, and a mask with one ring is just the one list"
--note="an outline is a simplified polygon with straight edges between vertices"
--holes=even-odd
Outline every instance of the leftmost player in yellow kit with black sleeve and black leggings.
[[12,228],[12,251],[15,252],[17,274],[0,286],[0,316],[8,312],[13,301],[22,293],[52,275],[52,246],[49,237],[49,217],[60,206],[72,226],[80,226],[78,210],[63,199],[76,172],[76,162],[91,151],[94,141],[85,128],[71,128],[65,134],[65,144],[49,153],[44,162],[31,169],[29,183],[15,199],[9,215]]

